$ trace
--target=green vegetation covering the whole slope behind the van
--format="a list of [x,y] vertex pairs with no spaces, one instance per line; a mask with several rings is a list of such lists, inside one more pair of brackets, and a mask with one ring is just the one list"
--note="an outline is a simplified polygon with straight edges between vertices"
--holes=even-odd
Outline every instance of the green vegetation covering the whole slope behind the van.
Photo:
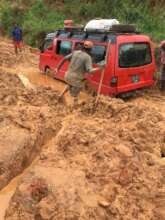
[[31,45],[46,32],[63,26],[65,18],[86,23],[96,17],[117,18],[121,23],[133,23],[139,31],[155,42],[165,38],[165,3],[163,0],[2,0],[0,20],[9,35],[13,23],[22,26],[25,41]]

